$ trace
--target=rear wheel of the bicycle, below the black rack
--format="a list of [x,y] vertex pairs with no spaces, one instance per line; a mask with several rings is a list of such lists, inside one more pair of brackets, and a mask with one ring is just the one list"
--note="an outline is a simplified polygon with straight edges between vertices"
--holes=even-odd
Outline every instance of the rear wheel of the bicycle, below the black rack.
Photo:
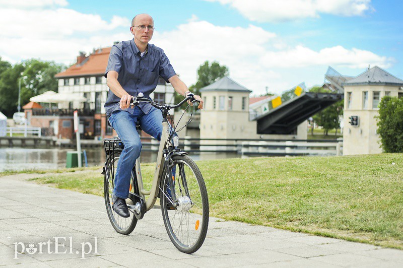
[[[113,157],[106,163],[107,170],[105,170],[104,175],[104,199],[105,199],[105,207],[106,212],[108,214],[108,218],[110,223],[116,232],[128,235],[130,234],[136,227],[137,218],[135,217],[133,210],[129,209],[130,216],[128,218],[123,218],[117,215],[116,212],[112,209],[112,191],[113,191],[113,181],[115,175],[115,169],[117,167],[117,162],[119,161],[120,154],[114,153]],[[133,183],[134,174],[131,172],[130,176],[131,182]],[[133,187],[134,188],[134,187]],[[128,199],[126,199],[126,202]]]

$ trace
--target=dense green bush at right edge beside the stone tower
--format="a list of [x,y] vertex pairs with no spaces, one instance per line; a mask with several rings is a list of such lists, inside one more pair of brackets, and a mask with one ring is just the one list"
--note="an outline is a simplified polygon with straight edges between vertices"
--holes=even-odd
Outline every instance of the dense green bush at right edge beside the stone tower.
[[379,103],[378,133],[385,153],[403,153],[403,99],[385,96]]

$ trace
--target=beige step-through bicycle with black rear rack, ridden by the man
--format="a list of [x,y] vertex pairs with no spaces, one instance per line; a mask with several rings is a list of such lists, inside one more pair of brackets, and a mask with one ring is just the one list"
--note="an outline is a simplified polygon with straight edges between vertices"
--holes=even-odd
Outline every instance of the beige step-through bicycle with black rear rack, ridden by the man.
[[[170,240],[181,252],[190,254],[197,251],[206,238],[209,200],[200,170],[187,153],[179,149],[178,137],[173,137],[176,128],[171,127],[167,119],[170,109],[177,108],[188,100],[191,103],[196,102],[192,94],[173,106],[153,102],[142,93],[133,97],[133,105],[147,102],[161,110],[163,131],[150,190],[143,187],[140,158],[132,169],[129,197],[126,199],[130,214],[128,218],[120,217],[112,209],[114,174],[124,148],[119,138],[104,139],[106,162],[102,174],[106,211],[116,232],[130,234],[138,220],[143,219],[145,213],[154,207],[159,197],[162,218]],[[149,197],[146,199],[147,195]]]

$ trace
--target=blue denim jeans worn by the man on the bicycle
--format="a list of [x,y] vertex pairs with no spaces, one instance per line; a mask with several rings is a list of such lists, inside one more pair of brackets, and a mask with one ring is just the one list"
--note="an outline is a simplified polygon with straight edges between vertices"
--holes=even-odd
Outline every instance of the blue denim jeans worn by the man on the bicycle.
[[[135,106],[133,114],[128,110],[114,111],[109,121],[124,145],[116,168],[113,194],[126,199],[129,194],[131,170],[142,150],[136,125],[140,124],[146,133],[161,141],[162,113],[159,109],[152,107],[150,112],[145,114],[138,106]],[[174,135],[176,136],[176,133]]]

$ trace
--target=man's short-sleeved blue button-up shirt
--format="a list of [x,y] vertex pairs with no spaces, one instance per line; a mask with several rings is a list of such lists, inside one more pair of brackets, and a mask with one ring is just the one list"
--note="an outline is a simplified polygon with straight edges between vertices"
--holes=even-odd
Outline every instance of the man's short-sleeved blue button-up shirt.
[[[136,96],[142,92],[149,99],[151,99],[150,93],[157,87],[160,76],[168,82],[168,79],[176,75],[164,50],[148,44],[147,52],[142,57],[134,39],[112,46],[105,77],[109,71],[116,71],[119,74],[117,81],[128,94]],[[108,117],[112,112],[122,110],[119,107],[119,101],[120,98],[109,89],[105,102]],[[145,114],[148,114],[151,109],[149,103],[142,103],[139,106]],[[132,108],[126,110],[133,113]]]

